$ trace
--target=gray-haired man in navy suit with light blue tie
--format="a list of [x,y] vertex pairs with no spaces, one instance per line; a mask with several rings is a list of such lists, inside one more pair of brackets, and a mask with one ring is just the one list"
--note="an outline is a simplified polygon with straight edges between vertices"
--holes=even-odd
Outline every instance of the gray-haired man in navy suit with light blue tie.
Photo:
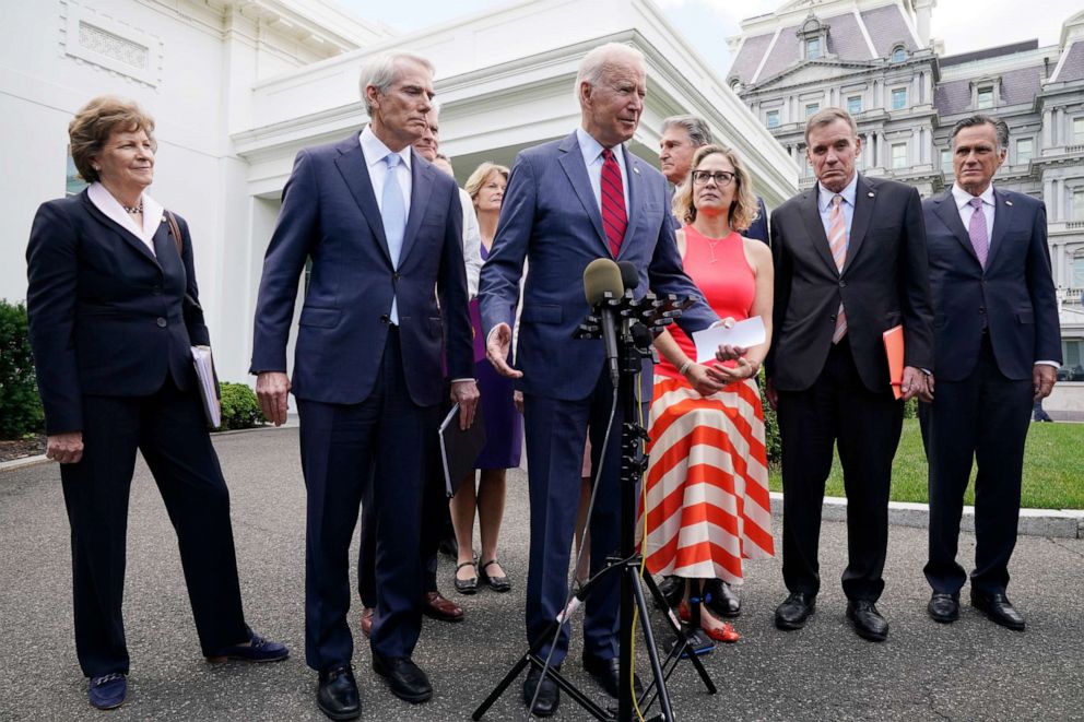
[[[433,66],[402,52],[377,57],[362,72],[361,91],[368,125],[302,150],[283,189],[251,365],[260,405],[275,425],[286,421],[287,394],[297,399],[307,495],[305,659],[319,673],[317,705],[333,720],[362,713],[346,616],[349,549],[363,498],[376,519],[373,668],[403,700],[433,696],[411,654],[422,628],[422,499],[437,455],[431,445],[447,393],[445,357],[462,427],[473,422],[479,398],[459,189],[411,147],[426,132]],[[291,382],[286,342],[309,262]]]

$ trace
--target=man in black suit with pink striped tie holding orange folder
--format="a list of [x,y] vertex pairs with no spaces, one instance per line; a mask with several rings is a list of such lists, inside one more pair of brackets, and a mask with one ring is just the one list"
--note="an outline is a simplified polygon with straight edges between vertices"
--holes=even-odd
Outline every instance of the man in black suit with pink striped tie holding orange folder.
[[816,606],[824,484],[839,451],[847,490],[847,617],[882,641],[875,602],[888,541],[892,459],[903,426],[882,333],[903,324],[903,395],[927,396],[933,316],[918,192],[856,171],[853,119],[825,108],[805,126],[816,185],[771,215],[776,291],[767,395],[782,438],[782,573],[779,629],[800,629]]

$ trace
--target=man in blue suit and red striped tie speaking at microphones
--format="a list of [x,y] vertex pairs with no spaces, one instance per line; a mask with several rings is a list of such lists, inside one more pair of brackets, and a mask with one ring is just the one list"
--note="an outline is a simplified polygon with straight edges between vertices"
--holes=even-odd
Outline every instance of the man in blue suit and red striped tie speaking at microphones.
[[[518,378],[523,391],[531,499],[530,642],[541,638],[565,602],[588,428],[592,469],[601,464],[603,470],[590,520],[592,572],[603,568],[618,542],[620,416],[610,443],[603,443],[614,389],[602,342],[573,340],[590,312],[584,269],[598,258],[629,261],[639,272],[639,294],[650,287],[700,296],[681,268],[665,179],[623,146],[644,110],[643,56],[621,44],[596,48],[580,64],[576,88],[581,127],[516,158],[479,292],[488,358],[498,371]],[[514,368],[511,324],[525,259],[530,273]],[[700,300],[685,311],[681,324],[692,332],[716,320]],[[648,380],[650,376],[648,365]],[[596,589],[584,622],[584,666],[616,696],[617,575],[609,575]],[[561,665],[567,648],[568,634],[563,630],[553,665]],[[549,652],[546,644],[540,654],[545,658]],[[530,703],[535,691],[532,711],[553,714],[557,687],[550,677],[541,680],[532,667],[525,701]]]

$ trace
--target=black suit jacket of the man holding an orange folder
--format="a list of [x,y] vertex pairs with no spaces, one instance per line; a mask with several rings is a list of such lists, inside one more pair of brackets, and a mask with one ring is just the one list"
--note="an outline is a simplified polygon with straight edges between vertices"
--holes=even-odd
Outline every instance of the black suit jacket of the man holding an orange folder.
[[883,331],[903,323],[904,363],[933,370],[933,313],[918,191],[859,174],[850,244],[836,270],[817,186],[771,214],[775,307],[767,375],[782,391],[813,384],[832,347],[840,300],[862,383],[888,388]]

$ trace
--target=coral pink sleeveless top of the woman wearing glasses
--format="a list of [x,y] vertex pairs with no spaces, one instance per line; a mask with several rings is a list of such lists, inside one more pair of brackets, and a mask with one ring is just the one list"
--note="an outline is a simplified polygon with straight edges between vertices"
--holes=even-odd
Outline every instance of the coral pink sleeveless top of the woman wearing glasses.
[[[685,273],[704,294],[704,299],[719,318],[731,317],[735,321],[749,318],[756,295],[756,276],[745,258],[744,241],[737,232],[726,238],[708,238],[693,226],[685,232]],[[676,323],[667,327],[685,355],[696,360],[696,346]],[[715,359],[707,366],[718,364]],[[732,364],[731,364],[732,365]],[[673,364],[660,358],[656,374],[671,378],[682,378]]]

